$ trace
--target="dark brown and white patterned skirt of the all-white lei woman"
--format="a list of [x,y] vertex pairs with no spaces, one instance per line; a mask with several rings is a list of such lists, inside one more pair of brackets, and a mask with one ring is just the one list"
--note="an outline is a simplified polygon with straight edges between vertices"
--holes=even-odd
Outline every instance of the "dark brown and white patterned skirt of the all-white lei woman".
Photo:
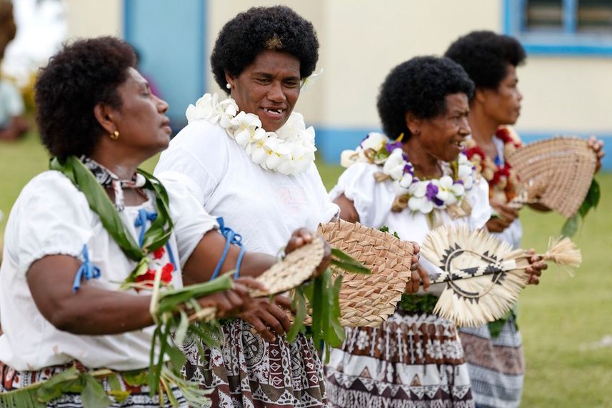
[[240,319],[226,322],[222,332],[223,346],[203,347],[204,359],[197,340],[184,345],[185,376],[214,389],[213,407],[326,407],[323,364],[311,340],[277,336],[269,343]]

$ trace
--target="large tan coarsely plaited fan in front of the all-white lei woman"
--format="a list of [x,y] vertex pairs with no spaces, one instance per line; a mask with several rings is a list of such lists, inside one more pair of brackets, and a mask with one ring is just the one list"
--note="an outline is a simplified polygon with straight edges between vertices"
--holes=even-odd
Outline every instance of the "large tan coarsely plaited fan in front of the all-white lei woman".
[[[340,290],[343,326],[378,327],[395,312],[410,281],[412,244],[360,223],[339,220],[318,226],[332,248],[371,268],[370,275],[344,273]],[[332,268],[333,269],[333,268]],[[333,270],[335,274],[343,273]]]

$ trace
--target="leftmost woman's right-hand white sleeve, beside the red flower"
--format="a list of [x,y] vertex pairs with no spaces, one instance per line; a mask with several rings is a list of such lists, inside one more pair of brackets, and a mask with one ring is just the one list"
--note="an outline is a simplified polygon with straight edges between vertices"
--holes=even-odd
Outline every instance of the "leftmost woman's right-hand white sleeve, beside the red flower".
[[170,218],[174,223],[179,262],[183,267],[204,234],[219,228],[219,224],[186,187],[189,184],[186,176],[175,174],[173,179],[163,180],[162,183],[168,192]]

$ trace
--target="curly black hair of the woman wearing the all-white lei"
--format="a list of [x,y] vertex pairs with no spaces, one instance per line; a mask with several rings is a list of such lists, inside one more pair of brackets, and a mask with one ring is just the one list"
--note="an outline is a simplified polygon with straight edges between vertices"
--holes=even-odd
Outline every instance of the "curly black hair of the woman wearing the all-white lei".
[[219,32],[211,55],[216,83],[229,94],[225,73],[239,76],[265,50],[298,58],[301,78],[310,76],[318,61],[318,40],[310,21],[287,6],[252,7]]

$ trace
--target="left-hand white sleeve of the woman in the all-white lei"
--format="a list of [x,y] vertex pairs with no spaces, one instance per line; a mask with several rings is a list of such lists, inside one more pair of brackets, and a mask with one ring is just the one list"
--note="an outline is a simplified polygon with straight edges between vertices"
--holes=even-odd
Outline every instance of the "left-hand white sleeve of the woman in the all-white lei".
[[227,136],[206,121],[189,123],[161,153],[155,167],[156,177],[174,180],[184,175],[186,187],[200,205],[206,205],[229,165]]

